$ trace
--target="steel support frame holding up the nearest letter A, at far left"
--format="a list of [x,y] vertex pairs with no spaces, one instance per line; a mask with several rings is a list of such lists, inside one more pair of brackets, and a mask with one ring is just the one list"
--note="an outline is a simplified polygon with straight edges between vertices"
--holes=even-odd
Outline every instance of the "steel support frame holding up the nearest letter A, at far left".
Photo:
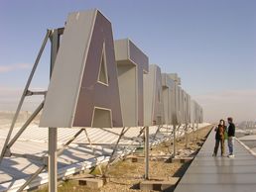
[[31,91],[29,90],[29,87],[31,85],[31,82],[33,80],[34,74],[36,72],[36,69],[39,65],[41,56],[44,52],[44,49],[46,48],[46,45],[51,40],[51,67],[50,67],[50,77],[52,75],[52,71],[54,68],[54,62],[57,56],[58,48],[60,46],[60,36],[63,35],[64,28],[55,29],[55,30],[47,30],[46,36],[44,38],[43,44],[39,50],[38,56],[35,60],[35,63],[32,67],[31,73],[29,75],[29,78],[27,80],[27,83],[25,85],[23,94],[21,96],[21,99],[19,101],[17,110],[15,112],[14,118],[12,120],[10,130],[8,132],[7,138],[5,140],[5,143],[3,145],[3,149],[1,151],[0,155],[0,164],[4,158],[4,156],[19,156],[24,158],[30,158],[34,160],[42,160],[44,165],[41,166],[31,177],[18,189],[18,191],[23,191],[26,186],[28,186],[31,181],[33,181],[44,169],[47,167],[49,168],[49,189],[51,192],[57,191],[57,128],[49,128],[49,162],[47,165],[45,156],[40,157],[33,154],[19,154],[19,153],[12,153],[11,152],[11,146],[17,142],[19,137],[24,133],[24,131],[28,128],[28,126],[31,124],[31,122],[36,118],[36,116],[41,112],[41,110],[44,107],[44,100],[42,103],[37,107],[37,109],[33,112],[33,114],[28,118],[28,120],[25,122],[25,124],[21,127],[21,129],[18,131],[18,133],[11,139],[15,124],[17,122],[17,119],[19,117],[19,114],[21,112],[23,103],[25,101],[25,98],[27,96],[33,96],[33,95],[44,95],[46,96],[47,91]]

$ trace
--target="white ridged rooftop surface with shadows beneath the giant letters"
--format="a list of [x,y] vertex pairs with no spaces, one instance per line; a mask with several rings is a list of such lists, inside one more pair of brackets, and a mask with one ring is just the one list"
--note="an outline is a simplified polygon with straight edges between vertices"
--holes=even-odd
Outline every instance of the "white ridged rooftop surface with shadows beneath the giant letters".
[[[205,127],[208,124],[200,124],[199,128]],[[14,133],[17,133],[19,128],[14,129]],[[58,129],[58,147],[62,146],[70,140],[70,138],[76,134],[80,129]],[[88,136],[94,145],[96,155],[98,156],[97,163],[107,161],[109,155],[112,152],[113,144],[118,139],[121,128],[119,129],[86,129]],[[130,130],[124,135],[120,144],[143,144],[142,138],[137,138],[140,132],[140,128],[130,128]],[[0,130],[0,149],[5,142],[9,129]],[[150,135],[153,136],[157,131],[157,127],[150,128]],[[12,136],[14,136],[14,133]],[[170,134],[169,134],[170,135]],[[179,133],[178,133],[179,135]],[[153,137],[151,137],[153,138]],[[156,143],[162,142],[165,139],[170,139],[165,131],[158,134]],[[152,142],[152,140],[151,140]],[[112,145],[105,145],[112,144]],[[126,149],[124,148],[126,147]],[[122,146],[118,148],[118,153],[131,152],[135,149],[135,146]],[[48,152],[48,129],[39,128],[38,126],[29,127],[19,140],[11,147],[11,152],[15,153],[27,153],[35,154],[37,156],[47,155]],[[84,132],[78,136],[73,143],[69,144],[64,153],[58,158],[59,177],[72,174],[82,169],[89,168],[95,164],[95,158],[93,158],[93,151],[91,150]],[[42,162],[35,160],[11,157],[4,158],[0,166],[0,191],[16,191],[17,187],[21,186],[25,179],[42,165]],[[48,182],[47,172],[41,173],[30,185],[31,187],[37,186]]]

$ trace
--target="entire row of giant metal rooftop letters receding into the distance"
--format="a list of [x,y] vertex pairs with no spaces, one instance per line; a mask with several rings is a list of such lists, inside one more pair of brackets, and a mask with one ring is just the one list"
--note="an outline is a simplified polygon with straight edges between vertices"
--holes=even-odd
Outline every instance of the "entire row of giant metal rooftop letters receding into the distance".
[[202,108],[129,39],[113,41],[98,11],[70,13],[41,127],[138,127],[202,123]]

